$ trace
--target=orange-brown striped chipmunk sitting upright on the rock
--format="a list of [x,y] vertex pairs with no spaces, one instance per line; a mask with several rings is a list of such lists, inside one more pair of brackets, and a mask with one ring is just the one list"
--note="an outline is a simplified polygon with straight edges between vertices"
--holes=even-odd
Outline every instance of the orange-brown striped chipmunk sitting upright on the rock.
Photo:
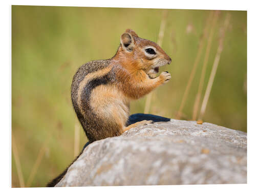
[[[152,123],[143,120],[125,126],[130,102],[168,82],[171,78],[168,72],[162,72],[156,78],[150,75],[158,73],[159,67],[171,61],[155,42],[140,38],[133,30],[126,29],[111,59],[94,60],[82,65],[73,77],[71,98],[89,143]],[[67,169],[48,186],[58,183]]]

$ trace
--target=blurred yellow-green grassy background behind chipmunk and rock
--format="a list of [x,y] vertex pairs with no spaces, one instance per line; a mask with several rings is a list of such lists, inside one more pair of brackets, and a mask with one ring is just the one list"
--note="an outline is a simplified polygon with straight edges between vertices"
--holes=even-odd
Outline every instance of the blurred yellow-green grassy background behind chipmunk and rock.
[[[173,62],[160,72],[169,71],[172,79],[154,91],[151,114],[175,118],[210,12],[167,10],[162,48]],[[246,11],[220,11],[203,94],[227,13],[224,49],[203,120],[246,132]],[[87,142],[70,96],[78,67],[111,58],[127,28],[157,42],[162,15],[160,9],[12,6],[12,187],[45,186]],[[206,42],[182,119],[192,119]],[[134,101],[131,114],[143,113],[144,106],[145,97]]]

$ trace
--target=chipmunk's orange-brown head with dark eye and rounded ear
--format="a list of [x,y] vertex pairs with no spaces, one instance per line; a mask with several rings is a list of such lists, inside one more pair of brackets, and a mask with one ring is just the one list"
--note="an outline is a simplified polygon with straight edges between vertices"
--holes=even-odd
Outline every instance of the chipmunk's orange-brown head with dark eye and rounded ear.
[[137,69],[143,69],[147,74],[158,73],[160,66],[170,64],[172,61],[155,42],[140,38],[131,29],[127,29],[121,35],[120,41],[119,49],[127,62]]

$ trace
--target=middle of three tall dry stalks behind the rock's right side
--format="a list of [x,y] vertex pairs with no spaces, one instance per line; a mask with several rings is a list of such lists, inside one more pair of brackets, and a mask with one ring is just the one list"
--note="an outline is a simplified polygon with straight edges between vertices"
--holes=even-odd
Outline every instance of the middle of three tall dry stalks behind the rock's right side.
[[198,110],[199,110],[199,103],[201,100],[201,95],[202,95],[202,90],[203,90],[203,85],[204,85],[204,78],[205,78],[206,67],[207,67],[207,63],[208,63],[208,59],[209,59],[212,37],[214,36],[214,30],[215,30],[215,26],[216,26],[219,14],[220,14],[219,11],[215,11],[214,19],[212,20],[212,25],[211,25],[211,29],[210,29],[210,34],[209,34],[209,37],[207,40],[207,46],[206,46],[205,57],[204,57],[204,61],[203,61],[202,73],[201,73],[200,82],[199,82],[199,86],[198,86],[198,92],[197,92],[197,96],[196,96],[194,108],[193,108],[193,117],[192,117],[193,120],[196,120]]

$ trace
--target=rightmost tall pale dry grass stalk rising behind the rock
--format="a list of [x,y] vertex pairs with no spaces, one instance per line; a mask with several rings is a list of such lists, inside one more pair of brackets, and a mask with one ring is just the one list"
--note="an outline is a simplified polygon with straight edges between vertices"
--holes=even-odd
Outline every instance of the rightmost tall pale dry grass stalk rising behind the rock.
[[224,41],[224,37],[225,37],[225,32],[226,32],[228,24],[229,24],[229,20],[230,20],[230,14],[227,13],[227,16],[226,16],[225,22],[224,22],[224,29],[221,33],[219,46],[218,46],[218,49],[217,49],[214,64],[212,66],[209,81],[208,81],[207,88],[206,88],[206,91],[205,91],[205,95],[204,95],[204,99],[203,99],[199,119],[202,119],[203,116],[204,116],[204,113],[205,113],[205,109],[206,109],[206,106],[207,106],[207,103],[208,103],[210,91],[211,91],[211,88],[212,88],[212,84],[214,83],[214,78],[215,78],[215,75],[216,75],[216,71],[217,71],[217,68],[218,68],[218,65],[219,65],[221,53],[222,53],[222,50],[223,50],[223,41]]

